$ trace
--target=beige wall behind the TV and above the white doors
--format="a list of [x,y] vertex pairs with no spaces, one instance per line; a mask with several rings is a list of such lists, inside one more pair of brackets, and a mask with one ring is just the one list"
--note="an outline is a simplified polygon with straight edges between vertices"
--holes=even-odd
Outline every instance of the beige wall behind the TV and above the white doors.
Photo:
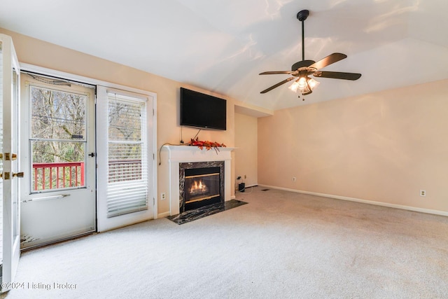
[[[13,37],[13,43],[21,63],[33,64],[56,71],[64,71],[69,74],[85,76],[101,81],[125,85],[131,88],[147,90],[157,94],[157,118],[158,118],[158,148],[167,142],[179,144],[181,140],[181,127],[179,126],[179,88],[194,89],[209,95],[215,95],[228,100],[228,127],[226,131],[203,130],[198,135],[202,140],[218,141],[226,146],[235,146],[234,129],[234,103],[235,99],[217,95],[206,90],[183,85],[179,82],[169,80],[145,71],[125,67],[108,60],[86,55],[84,53],[56,46],[51,43],[32,39],[15,32],[0,28],[0,33]],[[183,128],[183,140],[188,142],[197,133],[197,130]],[[232,163],[233,165],[233,163]],[[233,173],[232,168],[232,173]],[[233,180],[232,176],[232,180]],[[158,176],[158,197],[162,186],[166,186],[165,176]],[[235,190],[232,188],[232,195]],[[167,200],[158,198],[158,213],[169,211]]]

